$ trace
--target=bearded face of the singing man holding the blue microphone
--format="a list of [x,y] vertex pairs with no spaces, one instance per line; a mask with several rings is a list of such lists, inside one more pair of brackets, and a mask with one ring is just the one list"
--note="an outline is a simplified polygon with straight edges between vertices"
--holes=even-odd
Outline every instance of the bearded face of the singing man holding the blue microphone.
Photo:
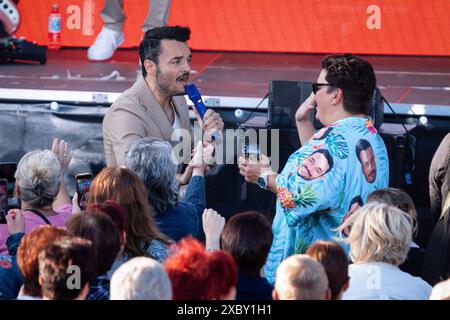
[[156,83],[168,96],[183,95],[191,72],[191,49],[176,40],[161,40],[156,66]]

